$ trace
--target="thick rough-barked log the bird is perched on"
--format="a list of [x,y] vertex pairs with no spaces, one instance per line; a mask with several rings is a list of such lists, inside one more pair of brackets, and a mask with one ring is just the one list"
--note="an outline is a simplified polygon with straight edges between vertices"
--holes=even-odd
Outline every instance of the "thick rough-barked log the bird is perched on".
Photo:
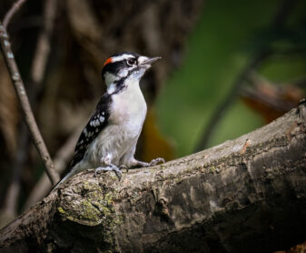
[[[0,231],[1,252],[271,252],[306,238],[306,106],[164,165],[73,177]],[[239,124],[239,123],[237,123]]]

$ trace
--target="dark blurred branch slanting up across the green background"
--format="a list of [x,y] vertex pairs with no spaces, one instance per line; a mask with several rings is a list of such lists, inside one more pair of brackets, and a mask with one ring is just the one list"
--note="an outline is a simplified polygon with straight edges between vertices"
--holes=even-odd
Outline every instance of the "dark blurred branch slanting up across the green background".
[[[278,29],[281,25],[284,25],[286,18],[290,14],[292,6],[296,3],[296,0],[284,0],[280,8],[274,15],[271,20],[271,29]],[[253,56],[249,64],[244,67],[242,73],[237,77],[234,84],[232,85],[232,90],[224,98],[222,104],[217,107],[217,109],[212,114],[212,117],[209,120],[208,126],[204,129],[200,141],[195,148],[195,151],[200,151],[208,146],[208,142],[213,135],[213,132],[216,129],[216,126],[219,124],[222,116],[232,105],[234,99],[238,96],[238,92],[243,86],[243,82],[247,76],[249,76],[252,71],[260,66],[262,61],[272,53],[270,49],[262,48],[256,56]]]

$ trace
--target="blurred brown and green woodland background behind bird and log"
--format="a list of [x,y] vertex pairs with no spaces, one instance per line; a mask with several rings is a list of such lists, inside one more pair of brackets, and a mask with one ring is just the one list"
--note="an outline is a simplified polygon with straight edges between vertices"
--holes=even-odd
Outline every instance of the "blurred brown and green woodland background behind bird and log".
[[[101,68],[114,53],[163,57],[142,81],[150,108],[137,157],[145,161],[239,137],[305,96],[303,0],[57,2],[41,82],[31,67],[44,31],[44,2],[28,0],[8,32],[46,146],[52,157],[64,147],[65,163],[104,92]],[[1,19],[13,3],[1,1]],[[13,217],[44,172],[22,122],[0,56],[0,207]],[[64,146],[67,141],[72,144]],[[15,204],[7,207],[12,182]]]

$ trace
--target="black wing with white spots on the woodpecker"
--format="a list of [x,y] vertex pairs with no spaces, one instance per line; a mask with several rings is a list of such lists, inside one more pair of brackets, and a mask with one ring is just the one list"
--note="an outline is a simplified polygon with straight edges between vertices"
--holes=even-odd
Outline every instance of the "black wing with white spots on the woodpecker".
[[70,163],[70,167],[74,167],[84,158],[87,148],[93,142],[94,138],[100,134],[105,126],[107,126],[111,101],[111,96],[104,93],[104,96],[101,97],[99,103],[95,107],[94,113],[90,117],[76,143],[74,157]]

